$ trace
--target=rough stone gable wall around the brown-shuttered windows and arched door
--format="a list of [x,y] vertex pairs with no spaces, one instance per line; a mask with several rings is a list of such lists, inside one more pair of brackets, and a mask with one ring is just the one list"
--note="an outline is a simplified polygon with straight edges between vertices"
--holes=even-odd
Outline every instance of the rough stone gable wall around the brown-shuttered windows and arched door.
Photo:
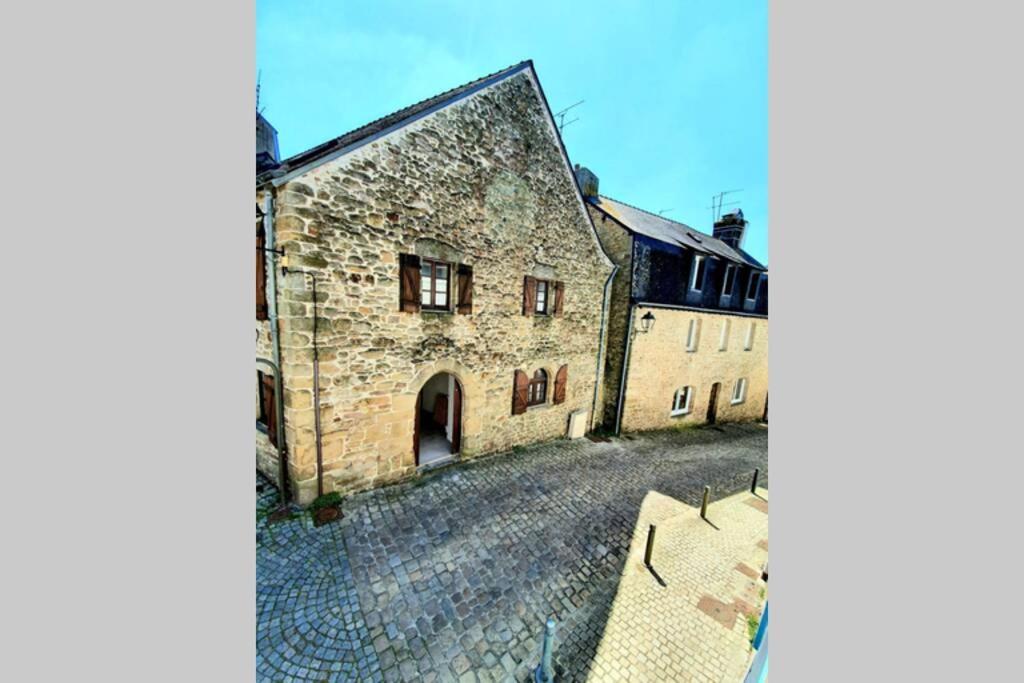
[[[300,503],[316,492],[314,303],[295,270],[316,278],[325,492],[415,473],[417,395],[440,372],[462,385],[463,459],[562,437],[571,412],[591,412],[611,263],[535,79],[519,72],[274,188],[289,269],[276,292],[284,428]],[[472,312],[400,311],[401,254],[472,266]],[[522,314],[526,275],[565,284],[563,314]],[[563,365],[566,397],[554,404]],[[546,403],[513,416],[514,372],[538,368],[552,380]]]

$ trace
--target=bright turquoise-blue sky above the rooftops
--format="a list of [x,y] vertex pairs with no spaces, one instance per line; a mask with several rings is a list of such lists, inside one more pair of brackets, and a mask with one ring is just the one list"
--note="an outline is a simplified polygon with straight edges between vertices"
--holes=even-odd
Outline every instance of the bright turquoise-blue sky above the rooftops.
[[764,0],[257,0],[260,105],[288,157],[532,59],[553,111],[585,100],[563,139],[602,195],[710,232],[742,188],[767,263],[767,34]]

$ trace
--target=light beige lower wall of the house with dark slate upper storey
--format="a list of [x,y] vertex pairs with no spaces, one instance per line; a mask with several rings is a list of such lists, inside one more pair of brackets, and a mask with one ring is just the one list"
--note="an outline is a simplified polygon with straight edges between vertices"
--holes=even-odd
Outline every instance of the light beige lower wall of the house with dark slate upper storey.
[[[768,319],[724,313],[648,308],[638,306],[639,321],[651,311],[654,328],[636,333],[630,351],[629,377],[623,431],[642,431],[667,427],[703,424],[712,385],[721,382],[718,393],[718,422],[760,420],[768,395]],[[697,350],[686,350],[691,319],[699,321]],[[722,326],[728,323],[727,350],[719,350]],[[754,324],[754,343],[744,350],[749,326]],[[639,327],[636,325],[635,327]],[[745,377],[746,398],[731,402],[737,379]],[[689,414],[671,416],[676,389],[694,387]]]

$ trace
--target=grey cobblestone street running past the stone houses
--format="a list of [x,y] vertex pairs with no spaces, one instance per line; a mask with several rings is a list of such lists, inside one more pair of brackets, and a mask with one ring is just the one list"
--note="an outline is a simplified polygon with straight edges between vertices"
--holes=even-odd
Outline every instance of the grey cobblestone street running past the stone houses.
[[[260,680],[525,680],[544,620],[584,680],[650,490],[767,486],[768,432],[721,425],[520,449],[351,496],[257,543]],[[272,496],[272,494],[270,494]]]

